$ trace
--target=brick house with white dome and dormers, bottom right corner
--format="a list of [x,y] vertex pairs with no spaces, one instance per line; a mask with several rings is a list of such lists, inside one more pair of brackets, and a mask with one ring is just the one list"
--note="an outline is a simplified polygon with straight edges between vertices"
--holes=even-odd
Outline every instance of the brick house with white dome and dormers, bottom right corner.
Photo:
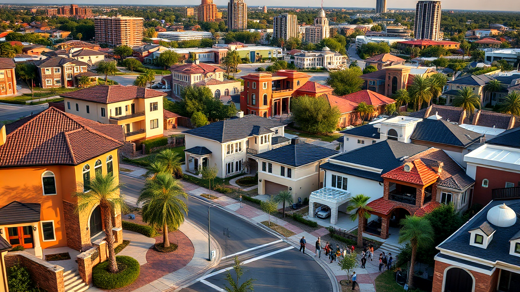
[[436,247],[433,292],[517,289],[519,203],[518,196],[491,201]]

